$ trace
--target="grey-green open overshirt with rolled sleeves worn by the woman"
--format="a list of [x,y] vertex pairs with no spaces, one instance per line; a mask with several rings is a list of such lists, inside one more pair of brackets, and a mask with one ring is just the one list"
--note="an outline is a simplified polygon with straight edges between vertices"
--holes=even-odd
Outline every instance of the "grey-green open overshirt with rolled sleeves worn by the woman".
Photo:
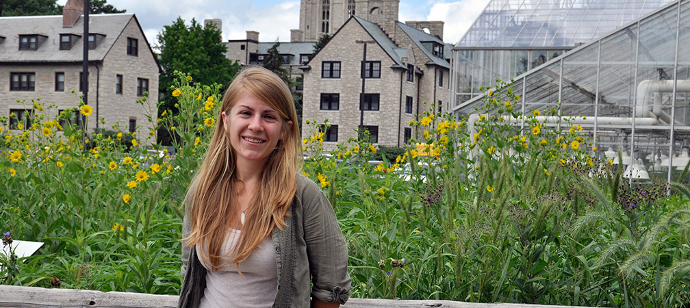
[[[185,200],[186,209],[190,200]],[[350,296],[348,248],[319,186],[297,175],[297,191],[283,229],[272,233],[278,267],[278,291],[273,307],[309,307],[311,297],[344,304]],[[182,238],[189,235],[185,215]],[[198,307],[206,289],[206,269],[194,247],[182,243],[182,289],[177,307]]]

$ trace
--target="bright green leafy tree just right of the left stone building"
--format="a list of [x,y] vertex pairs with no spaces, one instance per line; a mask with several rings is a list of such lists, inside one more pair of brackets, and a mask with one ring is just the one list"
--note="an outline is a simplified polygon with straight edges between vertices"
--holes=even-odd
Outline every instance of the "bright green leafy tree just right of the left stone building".
[[[163,68],[163,73],[159,75],[159,112],[177,112],[177,100],[169,95],[175,70],[188,74],[198,84],[217,83],[224,87],[230,85],[230,81],[233,81],[240,70],[237,61],[230,61],[226,57],[228,48],[221,44],[220,30],[213,23],[201,27],[200,23],[192,19],[190,26],[186,26],[184,20],[177,17],[172,25],[164,26],[156,38],[157,48],[161,52],[159,64]],[[162,131],[159,131],[159,140],[165,139]]]

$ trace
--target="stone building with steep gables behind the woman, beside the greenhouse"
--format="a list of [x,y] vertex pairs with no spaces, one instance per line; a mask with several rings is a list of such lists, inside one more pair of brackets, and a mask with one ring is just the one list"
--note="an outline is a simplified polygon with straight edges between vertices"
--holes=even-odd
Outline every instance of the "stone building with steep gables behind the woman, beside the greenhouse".
[[[451,65],[444,50],[451,46],[442,40],[442,24],[393,21],[393,27],[384,30],[354,15],[302,66],[303,119],[328,119],[326,148],[357,137],[360,125],[374,144],[403,146],[419,134],[410,120],[424,111],[449,110]],[[432,110],[432,103],[437,108]],[[302,125],[302,135],[308,135],[308,129]]]

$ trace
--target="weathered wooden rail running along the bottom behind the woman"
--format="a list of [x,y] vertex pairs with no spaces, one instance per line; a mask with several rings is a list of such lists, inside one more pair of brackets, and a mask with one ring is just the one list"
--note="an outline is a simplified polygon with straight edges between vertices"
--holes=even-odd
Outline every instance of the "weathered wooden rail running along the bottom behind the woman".
[[[44,289],[0,285],[0,308],[6,307],[176,307],[177,296],[75,289]],[[450,307],[450,308],[563,308],[566,306],[526,304],[477,304],[450,300],[379,300],[351,298],[344,308],[364,307]],[[572,306],[568,306],[572,307]]]

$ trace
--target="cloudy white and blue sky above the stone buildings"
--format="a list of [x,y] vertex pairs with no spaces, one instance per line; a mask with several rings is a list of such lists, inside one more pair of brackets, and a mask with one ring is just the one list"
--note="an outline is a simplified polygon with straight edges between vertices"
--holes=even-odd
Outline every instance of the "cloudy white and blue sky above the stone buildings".
[[[57,0],[64,5],[67,0]],[[108,0],[134,13],[152,47],[163,26],[182,17],[219,18],[223,39],[245,39],[246,30],[259,31],[259,41],[290,41],[290,29],[299,28],[299,0]],[[456,44],[489,0],[400,0],[400,21],[444,21],[444,41]]]

